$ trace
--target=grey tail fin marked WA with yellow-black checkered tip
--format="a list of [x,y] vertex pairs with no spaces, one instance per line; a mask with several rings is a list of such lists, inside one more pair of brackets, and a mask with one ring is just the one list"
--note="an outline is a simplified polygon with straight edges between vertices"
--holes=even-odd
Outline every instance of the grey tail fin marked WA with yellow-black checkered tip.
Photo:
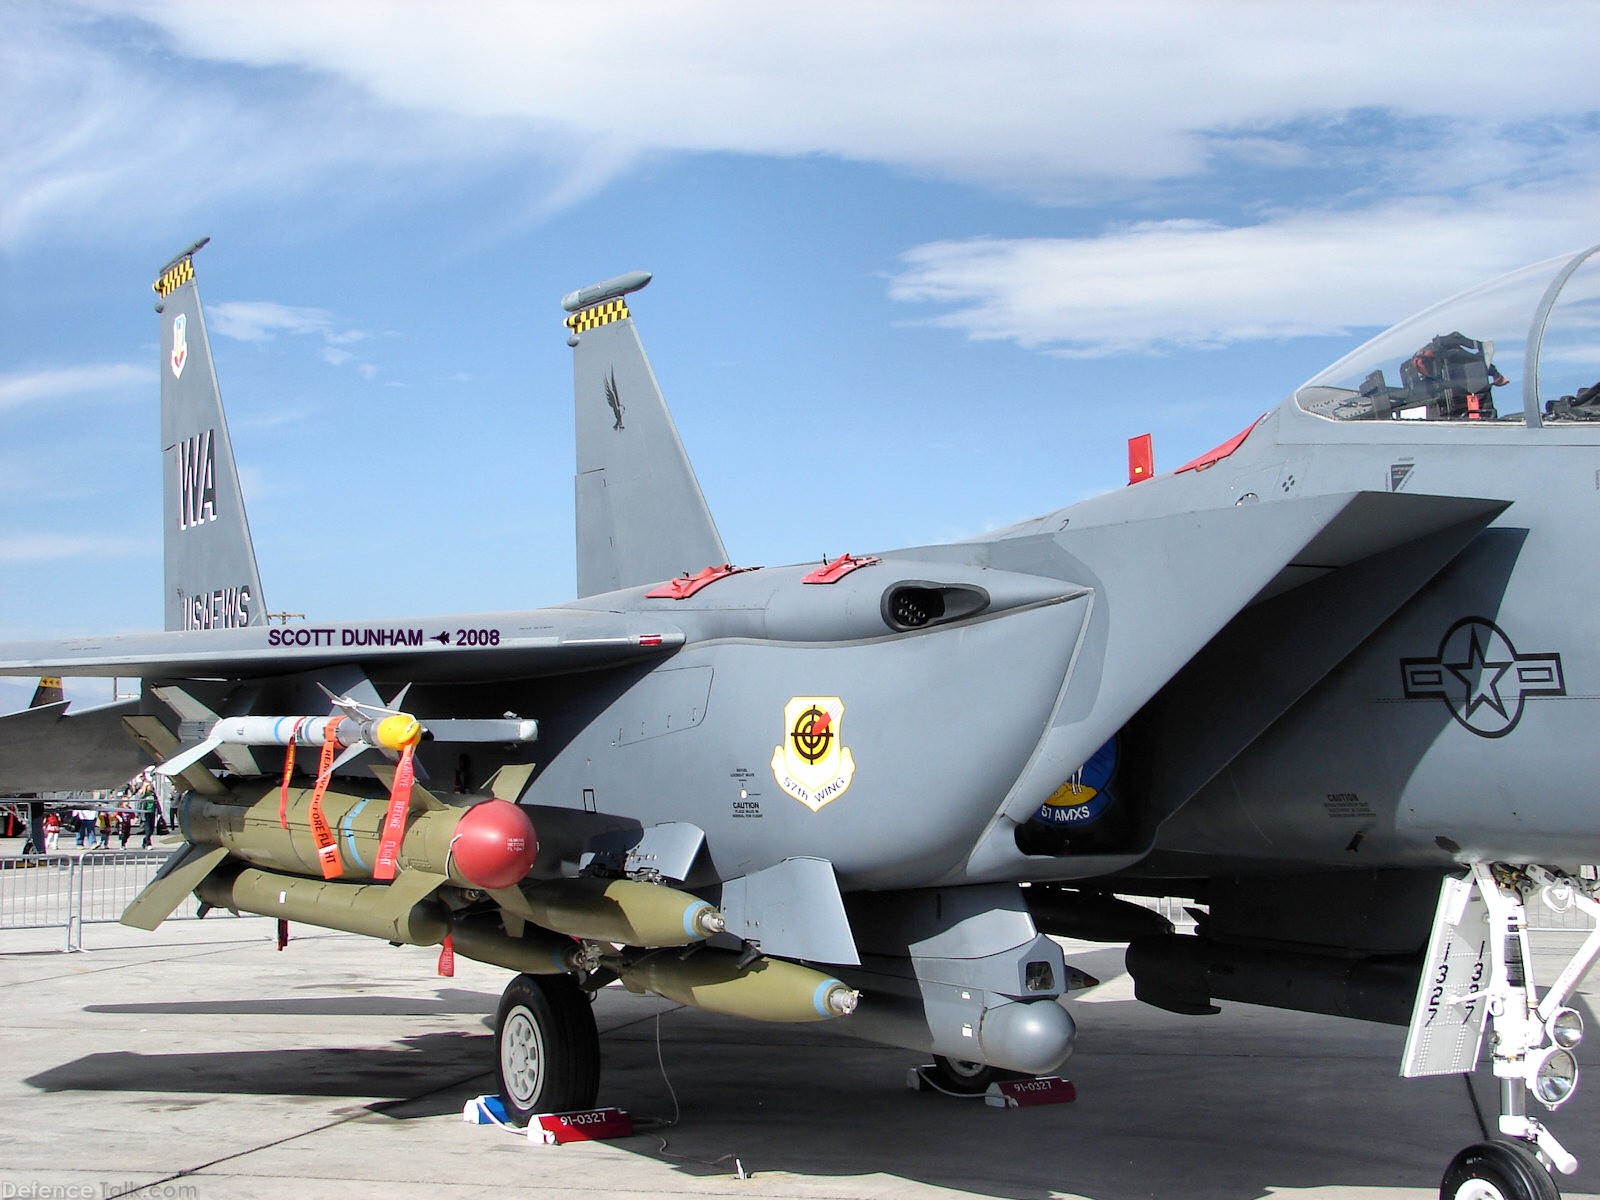
[[200,314],[194,256],[174,258],[155,280],[162,298],[162,525],[168,629],[266,624],[256,547],[234,467],[211,344]]

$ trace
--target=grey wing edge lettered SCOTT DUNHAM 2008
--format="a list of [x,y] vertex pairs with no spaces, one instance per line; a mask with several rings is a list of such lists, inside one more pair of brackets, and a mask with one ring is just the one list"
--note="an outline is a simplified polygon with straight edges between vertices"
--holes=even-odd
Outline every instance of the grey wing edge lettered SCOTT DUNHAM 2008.
[[405,680],[494,680],[659,658],[683,630],[658,619],[544,608],[467,618],[117,634],[0,643],[0,675],[261,678],[357,666]]

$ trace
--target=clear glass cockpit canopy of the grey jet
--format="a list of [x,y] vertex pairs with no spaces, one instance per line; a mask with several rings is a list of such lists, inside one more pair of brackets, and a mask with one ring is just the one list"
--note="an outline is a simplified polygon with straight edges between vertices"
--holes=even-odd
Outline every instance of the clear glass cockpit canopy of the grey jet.
[[1600,245],[1378,334],[1294,392],[1334,421],[1600,421]]

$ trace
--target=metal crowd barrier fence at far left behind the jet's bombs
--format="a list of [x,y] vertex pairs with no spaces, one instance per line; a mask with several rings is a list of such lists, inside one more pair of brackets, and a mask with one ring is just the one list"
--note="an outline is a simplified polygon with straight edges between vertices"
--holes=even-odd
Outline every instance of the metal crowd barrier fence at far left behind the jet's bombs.
[[[120,920],[171,853],[86,850],[0,858],[0,930],[59,928],[61,949],[82,950],[83,926]],[[194,920],[198,909],[200,901],[189,896],[170,920]]]

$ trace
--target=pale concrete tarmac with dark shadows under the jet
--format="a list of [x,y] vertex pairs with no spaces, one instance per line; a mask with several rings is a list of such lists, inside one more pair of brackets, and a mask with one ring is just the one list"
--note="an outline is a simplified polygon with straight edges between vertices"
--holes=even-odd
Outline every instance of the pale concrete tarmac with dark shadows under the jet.
[[[917,1054],[613,987],[595,1006],[600,1102],[640,1131],[534,1146],[461,1120],[494,1090],[510,973],[458,957],[445,979],[430,950],[302,926],[280,954],[270,934],[91,925],[62,954],[59,930],[6,931],[0,1200],[1418,1200],[1480,1139],[1461,1078],[1398,1078],[1400,1029],[1162,1013],[1133,1000],[1120,947],[1072,942],[1106,981],[1074,997],[1074,1104],[918,1094]],[[1477,1086],[1493,1120],[1486,1070]],[[1586,1163],[1568,1197],[1600,1189],[1597,1115],[1590,1086],[1549,1122]]]

